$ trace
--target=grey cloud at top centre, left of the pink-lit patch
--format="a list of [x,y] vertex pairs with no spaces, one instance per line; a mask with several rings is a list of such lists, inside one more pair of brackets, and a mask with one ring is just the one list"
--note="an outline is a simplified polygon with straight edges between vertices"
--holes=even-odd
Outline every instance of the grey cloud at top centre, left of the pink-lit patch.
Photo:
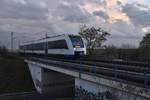
[[90,20],[88,18],[90,15],[87,12],[83,12],[78,5],[70,4],[69,2],[62,2],[52,16],[73,23],[85,23]]

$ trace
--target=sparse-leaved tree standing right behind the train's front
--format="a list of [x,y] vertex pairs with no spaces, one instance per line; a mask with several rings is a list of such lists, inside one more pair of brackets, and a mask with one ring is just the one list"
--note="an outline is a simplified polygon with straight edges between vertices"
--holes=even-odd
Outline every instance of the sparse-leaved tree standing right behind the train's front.
[[87,48],[90,54],[95,48],[102,47],[102,43],[107,40],[106,36],[110,35],[100,27],[88,28],[86,25],[81,26],[79,34],[87,41]]

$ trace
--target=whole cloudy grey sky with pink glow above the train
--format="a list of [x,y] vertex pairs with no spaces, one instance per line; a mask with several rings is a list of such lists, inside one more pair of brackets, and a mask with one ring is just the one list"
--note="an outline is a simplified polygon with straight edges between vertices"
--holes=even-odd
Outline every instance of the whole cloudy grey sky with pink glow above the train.
[[150,0],[0,0],[0,45],[10,47],[56,34],[77,34],[81,25],[108,31],[106,44],[138,46],[150,31]]

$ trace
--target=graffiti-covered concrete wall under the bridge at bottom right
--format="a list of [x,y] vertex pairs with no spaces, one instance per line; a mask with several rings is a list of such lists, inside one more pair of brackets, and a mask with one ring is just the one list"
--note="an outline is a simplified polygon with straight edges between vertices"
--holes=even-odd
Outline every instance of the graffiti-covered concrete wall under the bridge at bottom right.
[[79,78],[75,79],[75,87],[77,100],[149,100],[139,95]]

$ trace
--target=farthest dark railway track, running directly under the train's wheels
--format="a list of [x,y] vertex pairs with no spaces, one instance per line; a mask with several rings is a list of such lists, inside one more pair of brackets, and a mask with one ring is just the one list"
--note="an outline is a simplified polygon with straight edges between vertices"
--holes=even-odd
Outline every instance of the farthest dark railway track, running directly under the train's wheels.
[[124,60],[118,60],[118,59],[114,59],[114,60],[102,60],[102,59],[90,59],[90,58],[68,58],[68,59],[64,59],[63,56],[45,56],[45,55],[27,55],[25,57],[36,57],[36,58],[44,58],[44,59],[53,59],[53,60],[59,60],[59,61],[67,61],[67,62],[101,62],[101,63],[107,63],[107,64],[118,64],[118,65],[129,65],[129,66],[134,66],[134,67],[150,67],[150,63],[148,62],[138,62],[138,61],[124,61]]

